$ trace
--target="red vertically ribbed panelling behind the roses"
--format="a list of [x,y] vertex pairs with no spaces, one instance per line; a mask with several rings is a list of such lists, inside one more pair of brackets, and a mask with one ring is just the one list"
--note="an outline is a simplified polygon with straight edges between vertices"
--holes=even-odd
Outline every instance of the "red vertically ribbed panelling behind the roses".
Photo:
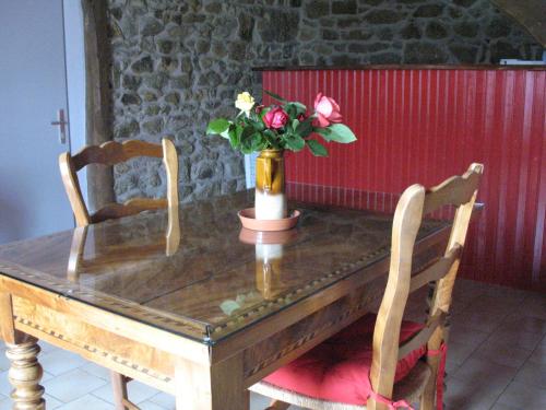
[[329,159],[288,154],[288,181],[344,188],[336,202],[351,206],[355,191],[397,194],[484,163],[486,209],[462,274],[535,290],[546,290],[545,81],[545,70],[524,69],[263,72],[263,87],[286,98],[335,98],[358,138],[329,144]]

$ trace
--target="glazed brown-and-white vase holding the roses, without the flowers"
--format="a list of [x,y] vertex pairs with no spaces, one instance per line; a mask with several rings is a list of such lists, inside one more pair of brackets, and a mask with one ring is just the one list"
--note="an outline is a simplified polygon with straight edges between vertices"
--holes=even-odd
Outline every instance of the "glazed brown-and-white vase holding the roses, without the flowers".
[[256,159],[254,209],[258,220],[286,218],[283,154],[283,150],[263,150]]

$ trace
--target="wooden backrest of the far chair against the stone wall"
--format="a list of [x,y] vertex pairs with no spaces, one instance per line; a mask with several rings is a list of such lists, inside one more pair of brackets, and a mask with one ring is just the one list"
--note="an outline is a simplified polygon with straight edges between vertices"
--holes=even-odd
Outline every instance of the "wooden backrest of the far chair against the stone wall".
[[[167,174],[166,199],[133,198],[124,203],[108,203],[90,214],[82,197],[76,172],[88,164],[115,165],[135,156],[163,159]],[[85,147],[73,156],[68,152],[62,153],[59,156],[59,168],[78,226],[87,226],[108,219],[161,208],[169,210],[169,220],[178,220],[178,155],[175,144],[168,139],[164,138],[161,145],[130,140],[123,143],[109,141],[99,147]],[[170,218],[175,212],[176,215],[173,216],[176,218]]]

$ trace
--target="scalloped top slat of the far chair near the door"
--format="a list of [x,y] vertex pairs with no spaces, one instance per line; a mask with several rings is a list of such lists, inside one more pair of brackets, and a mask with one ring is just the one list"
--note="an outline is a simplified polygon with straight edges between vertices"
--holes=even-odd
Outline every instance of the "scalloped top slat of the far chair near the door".
[[135,156],[163,157],[161,145],[141,140],[130,140],[123,143],[108,141],[97,147],[85,147],[72,156],[75,171],[80,171],[88,164],[114,165]]

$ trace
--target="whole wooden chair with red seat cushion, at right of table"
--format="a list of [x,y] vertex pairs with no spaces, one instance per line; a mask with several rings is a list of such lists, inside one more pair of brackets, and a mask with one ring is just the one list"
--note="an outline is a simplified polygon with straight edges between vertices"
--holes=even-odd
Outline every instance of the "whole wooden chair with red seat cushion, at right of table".
[[[387,410],[410,407],[410,403],[419,400],[422,410],[431,410],[436,406],[441,408],[441,382],[446,360],[444,320],[451,304],[461,251],[482,174],[483,165],[472,164],[463,176],[451,177],[429,190],[426,190],[422,185],[413,185],[402,195],[394,214],[390,271],[385,292],[377,318],[371,317],[369,320],[370,336],[366,349],[371,352],[371,356],[368,356],[371,359],[367,363],[368,367],[357,367],[369,370],[369,374],[364,375],[369,390],[364,390],[366,396],[363,396],[365,397],[363,401],[359,403],[347,402],[351,401],[348,399],[345,401],[345,396],[351,394],[345,388],[337,388],[340,386],[335,384],[337,382],[332,382],[334,393],[331,396],[341,395],[341,397],[336,396],[335,400],[302,393],[307,389],[306,391],[320,391],[320,395],[325,396],[323,391],[329,386],[324,383],[342,379],[335,379],[339,377],[335,372],[342,367],[334,367],[337,363],[332,364],[331,356],[322,359],[321,354],[328,351],[324,350],[324,347],[334,349],[329,350],[330,352],[335,352],[340,348],[348,352],[348,358],[344,358],[347,362],[343,362],[342,365],[358,362],[351,345],[352,343],[361,343],[361,341],[358,340],[355,343],[351,338],[343,338],[343,333],[347,330],[345,329],[302,358],[281,367],[262,382],[250,387],[250,390],[274,400],[269,409],[281,410],[287,409],[289,405],[295,405],[322,410],[363,408]],[[440,255],[434,263],[412,274],[414,246],[423,216],[449,204],[454,206],[456,211],[444,254]],[[427,323],[424,326],[413,324],[417,325],[417,330],[413,331],[408,338],[402,338],[404,328],[412,326],[412,323],[403,320],[408,294],[429,282],[436,282],[436,288]],[[365,323],[366,318],[369,319],[370,315],[357,320],[348,329],[360,331],[358,327]],[[356,349],[363,350],[358,345]],[[422,360],[416,360],[413,367],[410,368],[410,373],[402,379],[396,378],[399,361],[416,353],[422,356]],[[361,360],[361,356],[359,358],[358,360]],[[313,361],[322,361],[322,363],[319,363],[318,367],[306,367],[314,366]],[[321,367],[322,365],[324,367]],[[310,376],[307,376],[306,371],[309,368],[311,368]],[[317,377],[314,368],[327,368],[318,376],[317,386],[320,388],[316,389],[309,387],[312,385],[312,379]],[[335,368],[335,372],[332,372],[332,368]],[[329,371],[331,373],[327,374]],[[332,375],[332,373],[334,374]],[[332,379],[329,378],[330,375],[332,375]],[[311,382],[300,380],[305,377],[310,377]],[[343,378],[341,383],[346,383],[346,379]]]

